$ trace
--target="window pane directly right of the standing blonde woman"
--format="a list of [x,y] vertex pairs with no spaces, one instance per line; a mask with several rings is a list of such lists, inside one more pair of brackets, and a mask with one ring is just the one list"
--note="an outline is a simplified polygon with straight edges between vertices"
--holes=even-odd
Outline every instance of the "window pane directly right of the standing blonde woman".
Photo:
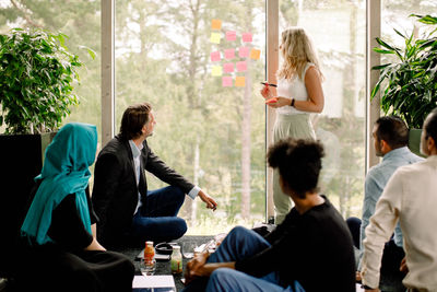
[[361,217],[365,177],[366,2],[280,1],[280,33],[300,26],[318,50],[324,108],[314,115],[326,157],[322,194],[346,218]]

